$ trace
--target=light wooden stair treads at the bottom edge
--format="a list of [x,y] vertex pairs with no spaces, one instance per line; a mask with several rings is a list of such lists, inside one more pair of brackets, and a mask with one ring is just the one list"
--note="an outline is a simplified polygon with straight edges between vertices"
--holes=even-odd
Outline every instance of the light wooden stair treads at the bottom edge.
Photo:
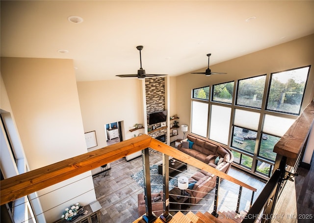
[[[218,212],[218,217],[215,218],[209,212],[188,212],[184,215],[181,211],[176,213],[168,223],[241,223],[245,217],[246,212],[243,211],[237,214],[234,211]],[[146,223],[142,217],[135,220],[133,223]],[[153,223],[164,223],[161,219],[157,218]]]

